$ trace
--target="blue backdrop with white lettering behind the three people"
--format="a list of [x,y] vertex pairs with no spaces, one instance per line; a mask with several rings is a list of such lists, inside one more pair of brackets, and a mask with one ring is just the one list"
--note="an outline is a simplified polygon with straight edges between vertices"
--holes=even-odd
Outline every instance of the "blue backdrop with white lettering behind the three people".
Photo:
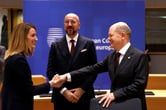
[[[131,43],[144,50],[144,0],[24,0],[24,22],[36,25],[39,39],[33,57],[28,58],[33,74],[46,76],[50,44],[63,36],[63,20],[69,12],[79,15],[79,32],[94,40],[98,61],[111,52],[107,40],[108,28],[118,21],[129,24]],[[110,86],[108,73],[98,75],[94,83],[96,89],[108,89]]]

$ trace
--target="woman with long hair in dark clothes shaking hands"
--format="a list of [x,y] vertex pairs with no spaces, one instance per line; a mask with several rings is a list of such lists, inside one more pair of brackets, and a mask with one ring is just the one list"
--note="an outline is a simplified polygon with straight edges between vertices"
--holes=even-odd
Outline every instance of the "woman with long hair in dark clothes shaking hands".
[[18,24],[9,38],[5,53],[5,70],[2,87],[2,110],[33,110],[33,96],[48,93],[53,79],[33,86],[27,57],[32,56],[38,38],[32,24]]

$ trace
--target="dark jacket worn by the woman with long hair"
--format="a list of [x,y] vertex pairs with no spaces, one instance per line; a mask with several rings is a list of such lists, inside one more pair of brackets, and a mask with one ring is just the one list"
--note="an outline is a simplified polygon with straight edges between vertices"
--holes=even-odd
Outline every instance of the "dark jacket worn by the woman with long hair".
[[33,110],[33,96],[49,90],[49,83],[33,86],[31,70],[24,55],[13,55],[5,60],[2,110]]

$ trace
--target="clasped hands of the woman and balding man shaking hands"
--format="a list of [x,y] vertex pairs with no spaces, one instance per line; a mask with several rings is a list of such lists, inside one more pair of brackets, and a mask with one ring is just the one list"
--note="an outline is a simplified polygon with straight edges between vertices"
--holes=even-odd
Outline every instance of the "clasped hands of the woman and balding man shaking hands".
[[59,88],[66,81],[67,81],[67,75],[66,74],[63,74],[63,75],[56,74],[51,79],[51,81],[49,81],[49,83],[50,83],[51,87]]

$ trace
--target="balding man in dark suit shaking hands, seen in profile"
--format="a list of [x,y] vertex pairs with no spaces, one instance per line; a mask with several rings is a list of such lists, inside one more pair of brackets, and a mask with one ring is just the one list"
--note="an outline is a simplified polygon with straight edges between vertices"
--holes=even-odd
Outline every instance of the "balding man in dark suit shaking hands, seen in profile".
[[[142,110],[146,110],[144,90],[148,79],[148,60],[143,51],[131,45],[130,38],[131,29],[125,22],[113,24],[108,31],[108,40],[115,51],[97,64],[61,76],[57,75],[56,87],[65,81],[77,81],[87,78],[90,74],[108,71],[112,81],[111,91],[101,95],[99,103],[102,103],[103,107],[108,107],[112,101],[140,98]],[[115,70],[114,61],[117,52],[120,53],[120,58]]]

